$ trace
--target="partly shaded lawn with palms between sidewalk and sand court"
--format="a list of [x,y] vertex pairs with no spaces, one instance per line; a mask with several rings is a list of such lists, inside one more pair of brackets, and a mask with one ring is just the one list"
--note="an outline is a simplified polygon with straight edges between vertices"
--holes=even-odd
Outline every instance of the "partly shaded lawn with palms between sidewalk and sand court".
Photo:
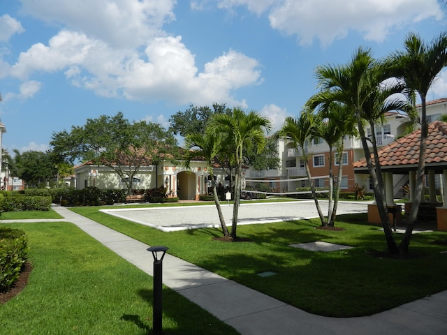
[[[447,255],[439,253],[447,250],[446,232],[414,234],[410,251],[424,257],[402,260],[369,254],[385,250],[386,242],[378,227],[365,224],[366,214],[339,216],[336,226],[343,231],[315,229],[316,220],[241,225],[240,237],[251,241],[225,243],[213,241],[221,236],[218,229],[166,233],[103,214],[99,208],[73,211],[146,244],[168,246],[179,258],[311,313],[370,315],[447,289]],[[197,210],[200,213],[200,207]],[[323,253],[288,246],[309,241],[355,248]],[[262,271],[277,274],[256,275]]]

